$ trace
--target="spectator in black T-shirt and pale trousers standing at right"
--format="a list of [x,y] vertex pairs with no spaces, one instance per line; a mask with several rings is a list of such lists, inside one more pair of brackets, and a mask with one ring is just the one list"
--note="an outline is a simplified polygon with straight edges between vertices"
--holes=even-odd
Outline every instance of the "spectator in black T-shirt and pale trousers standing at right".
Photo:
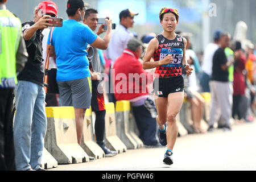
[[214,123],[220,119],[223,129],[231,130],[229,119],[232,115],[232,85],[229,82],[228,68],[233,61],[228,61],[225,55],[225,48],[229,46],[230,34],[224,33],[220,36],[220,48],[214,53],[212,78],[210,80],[210,121],[208,131],[214,130]]

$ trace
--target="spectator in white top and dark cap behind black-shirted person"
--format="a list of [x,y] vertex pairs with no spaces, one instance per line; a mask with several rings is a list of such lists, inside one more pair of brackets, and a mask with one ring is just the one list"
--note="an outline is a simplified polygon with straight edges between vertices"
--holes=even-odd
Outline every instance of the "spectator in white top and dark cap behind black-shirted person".
[[200,75],[200,85],[202,92],[210,92],[210,76],[212,75],[212,60],[214,52],[218,49],[218,42],[220,40],[220,31],[214,33],[214,42],[209,43],[204,50],[204,58],[202,63],[202,73]]

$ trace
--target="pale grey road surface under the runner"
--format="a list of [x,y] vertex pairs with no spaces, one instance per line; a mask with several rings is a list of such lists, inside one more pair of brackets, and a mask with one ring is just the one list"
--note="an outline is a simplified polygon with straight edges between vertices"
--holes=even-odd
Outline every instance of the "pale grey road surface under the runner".
[[113,158],[59,165],[49,171],[226,171],[256,170],[256,122],[233,126],[232,131],[179,137],[174,148],[174,164],[163,164],[166,150],[141,148],[127,150]]

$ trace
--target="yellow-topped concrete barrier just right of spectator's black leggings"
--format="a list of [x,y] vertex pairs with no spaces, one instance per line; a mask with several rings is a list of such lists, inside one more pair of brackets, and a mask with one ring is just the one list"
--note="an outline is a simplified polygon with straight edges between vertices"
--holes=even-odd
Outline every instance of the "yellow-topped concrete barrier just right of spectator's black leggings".
[[117,151],[118,154],[127,151],[126,145],[117,136],[117,127],[115,120],[115,106],[114,103],[105,104],[105,142],[110,150]]

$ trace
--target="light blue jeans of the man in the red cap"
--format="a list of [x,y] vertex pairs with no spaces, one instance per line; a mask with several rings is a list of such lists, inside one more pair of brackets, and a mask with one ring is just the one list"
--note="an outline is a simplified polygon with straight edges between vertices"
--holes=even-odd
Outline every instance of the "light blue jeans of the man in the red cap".
[[38,169],[47,129],[43,86],[19,81],[15,89],[14,148],[17,170]]

